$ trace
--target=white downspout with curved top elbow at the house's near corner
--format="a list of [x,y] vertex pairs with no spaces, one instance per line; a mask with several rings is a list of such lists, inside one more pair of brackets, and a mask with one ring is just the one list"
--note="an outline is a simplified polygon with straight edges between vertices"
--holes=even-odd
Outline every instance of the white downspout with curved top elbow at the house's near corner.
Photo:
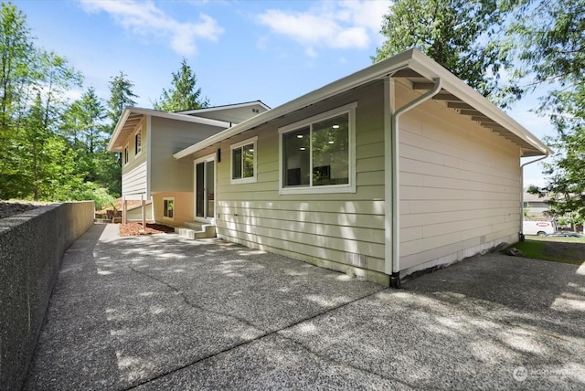
[[[391,243],[386,243],[386,246],[392,247],[392,273],[390,274],[390,287],[400,288],[400,167],[399,167],[399,119],[402,114],[414,109],[426,100],[430,100],[437,95],[442,88],[441,78],[433,79],[434,86],[431,90],[420,95],[415,100],[400,107],[390,115],[390,133],[392,137],[392,188],[391,188],[391,218],[392,218],[392,239]],[[391,99],[394,100],[394,90],[392,89]],[[388,199],[387,199],[388,206]],[[388,209],[387,209],[388,217]]]

